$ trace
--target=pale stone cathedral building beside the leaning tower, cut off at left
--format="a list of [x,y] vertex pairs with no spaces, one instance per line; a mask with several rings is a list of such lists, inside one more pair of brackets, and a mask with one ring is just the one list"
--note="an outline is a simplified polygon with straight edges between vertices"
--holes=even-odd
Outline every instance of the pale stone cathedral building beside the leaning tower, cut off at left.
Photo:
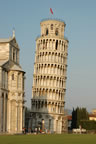
[[21,133],[24,127],[24,74],[13,36],[0,39],[0,133]]

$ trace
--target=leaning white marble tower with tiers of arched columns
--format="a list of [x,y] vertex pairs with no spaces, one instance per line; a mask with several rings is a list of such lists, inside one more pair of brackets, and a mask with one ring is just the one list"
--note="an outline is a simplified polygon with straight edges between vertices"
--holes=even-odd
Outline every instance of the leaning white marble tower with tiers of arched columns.
[[68,40],[61,20],[41,21],[41,35],[36,39],[31,128],[62,133],[66,92]]

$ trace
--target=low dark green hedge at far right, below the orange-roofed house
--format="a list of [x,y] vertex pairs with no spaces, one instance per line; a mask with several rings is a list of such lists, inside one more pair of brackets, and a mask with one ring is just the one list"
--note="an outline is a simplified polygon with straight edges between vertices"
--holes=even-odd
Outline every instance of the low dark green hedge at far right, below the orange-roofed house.
[[81,120],[80,123],[82,128],[86,130],[96,130],[96,121]]

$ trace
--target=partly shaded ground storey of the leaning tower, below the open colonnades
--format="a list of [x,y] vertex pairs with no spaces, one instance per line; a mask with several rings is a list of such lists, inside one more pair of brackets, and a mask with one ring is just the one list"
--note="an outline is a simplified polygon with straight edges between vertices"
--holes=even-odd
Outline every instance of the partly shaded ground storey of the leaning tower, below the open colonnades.
[[64,114],[31,112],[30,128],[35,132],[57,133],[67,132],[67,119]]

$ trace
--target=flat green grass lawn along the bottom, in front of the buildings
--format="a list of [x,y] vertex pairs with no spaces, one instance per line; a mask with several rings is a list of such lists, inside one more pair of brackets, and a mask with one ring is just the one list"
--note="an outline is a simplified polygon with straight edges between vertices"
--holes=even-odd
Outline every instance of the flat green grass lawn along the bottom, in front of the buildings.
[[0,135],[0,144],[96,144],[96,135]]

